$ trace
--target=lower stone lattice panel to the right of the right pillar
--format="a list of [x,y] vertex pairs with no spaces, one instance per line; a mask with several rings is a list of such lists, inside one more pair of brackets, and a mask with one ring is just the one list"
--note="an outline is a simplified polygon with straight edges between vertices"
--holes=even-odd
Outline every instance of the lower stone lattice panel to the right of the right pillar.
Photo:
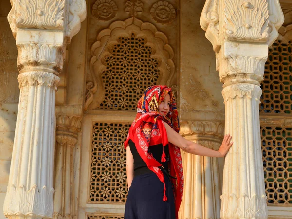
[[292,128],[261,127],[268,204],[292,204]]

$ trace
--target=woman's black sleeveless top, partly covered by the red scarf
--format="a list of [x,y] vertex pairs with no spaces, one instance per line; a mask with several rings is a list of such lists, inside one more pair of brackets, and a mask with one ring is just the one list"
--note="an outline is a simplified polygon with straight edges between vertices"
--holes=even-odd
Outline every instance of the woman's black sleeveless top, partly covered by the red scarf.
[[[132,140],[129,140],[130,149],[134,158],[134,176],[142,175],[145,173],[153,173],[148,169],[147,164],[140,157],[140,154],[137,151],[135,143]],[[153,155],[156,161],[163,165],[165,170],[168,170],[168,161],[169,161],[169,150],[168,145],[164,147],[164,153],[166,156],[166,162],[161,162],[161,156],[163,153],[163,145],[153,145],[149,146],[149,153]]]

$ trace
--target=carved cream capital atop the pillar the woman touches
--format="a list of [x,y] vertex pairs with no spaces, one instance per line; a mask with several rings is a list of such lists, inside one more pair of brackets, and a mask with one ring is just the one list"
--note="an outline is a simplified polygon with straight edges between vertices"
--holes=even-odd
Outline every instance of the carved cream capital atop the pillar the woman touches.
[[207,0],[200,24],[216,52],[220,81],[259,85],[283,22],[278,0]]

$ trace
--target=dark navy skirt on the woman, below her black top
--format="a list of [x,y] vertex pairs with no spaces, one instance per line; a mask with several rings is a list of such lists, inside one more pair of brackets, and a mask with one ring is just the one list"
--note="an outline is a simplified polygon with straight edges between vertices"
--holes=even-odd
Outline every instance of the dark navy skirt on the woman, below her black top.
[[176,219],[172,185],[164,173],[164,183],[155,173],[135,176],[128,192],[124,219]]

